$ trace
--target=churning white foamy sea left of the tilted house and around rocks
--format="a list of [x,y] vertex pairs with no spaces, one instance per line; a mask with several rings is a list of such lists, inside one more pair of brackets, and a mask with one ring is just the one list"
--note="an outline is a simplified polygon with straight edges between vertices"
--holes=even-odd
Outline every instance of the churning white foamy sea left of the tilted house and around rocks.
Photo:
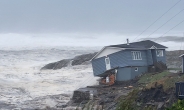
[[[59,70],[41,70],[44,64],[94,51],[21,50],[0,51],[0,102],[30,107],[28,100],[48,95],[69,94],[80,87],[96,84],[91,65],[69,66]],[[67,101],[70,97],[62,97]],[[28,103],[29,102],[29,103]],[[28,103],[28,104],[25,104]],[[47,106],[58,102],[51,98],[39,101]]]

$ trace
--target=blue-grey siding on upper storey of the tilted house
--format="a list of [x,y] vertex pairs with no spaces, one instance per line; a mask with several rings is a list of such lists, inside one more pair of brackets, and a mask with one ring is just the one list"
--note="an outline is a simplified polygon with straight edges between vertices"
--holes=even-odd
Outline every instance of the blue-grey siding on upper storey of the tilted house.
[[[153,64],[151,50],[139,50],[141,52],[142,60],[133,60],[132,51],[135,50],[122,50],[108,55],[110,59],[111,68],[128,66],[140,67]],[[105,57],[92,60],[92,66],[93,73],[95,76],[104,73],[106,71]]]

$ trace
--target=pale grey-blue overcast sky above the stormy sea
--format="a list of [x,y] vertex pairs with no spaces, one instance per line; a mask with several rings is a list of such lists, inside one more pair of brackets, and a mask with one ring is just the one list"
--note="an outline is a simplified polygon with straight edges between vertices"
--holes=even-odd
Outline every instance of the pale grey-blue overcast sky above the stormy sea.
[[[0,38],[7,35],[11,38],[14,37],[13,34],[60,38],[68,34],[68,37],[82,36],[89,39],[101,36],[105,38],[106,35],[107,39],[118,37],[123,42],[128,37],[134,39],[178,1],[180,0],[0,0]],[[184,20],[182,11],[165,23],[184,9],[183,6],[184,1],[181,0],[140,37],[150,34],[149,37],[160,37]],[[158,30],[155,31],[156,29]],[[181,23],[166,35],[181,36],[183,29],[184,23]]]

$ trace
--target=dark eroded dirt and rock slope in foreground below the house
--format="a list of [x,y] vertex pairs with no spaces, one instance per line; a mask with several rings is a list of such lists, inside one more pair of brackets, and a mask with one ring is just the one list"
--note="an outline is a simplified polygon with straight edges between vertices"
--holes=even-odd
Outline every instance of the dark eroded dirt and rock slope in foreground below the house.
[[[179,81],[183,78],[181,74],[177,73],[153,73],[151,76],[159,76],[159,74],[166,75],[162,76],[163,78],[166,78],[166,80],[164,81],[168,81],[171,79],[175,81],[175,78],[178,78]],[[80,96],[83,96],[86,99],[83,100],[79,98],[80,100],[78,100],[76,98],[73,98],[73,100],[66,104],[65,109],[68,110],[67,107],[75,106],[79,110],[115,110],[121,103],[122,99],[129,100],[126,98],[127,95],[133,90],[138,89],[138,92],[136,93],[136,99],[133,100],[132,107],[136,108],[137,110],[145,110],[146,107],[151,106],[154,109],[150,110],[164,110],[165,108],[170,107],[174,102],[176,102],[177,98],[175,96],[174,86],[165,91],[163,85],[159,83],[160,80],[162,81],[162,77],[160,76],[159,79],[156,80],[154,83],[149,83],[152,85],[154,84],[154,86],[152,86],[151,88],[146,88],[145,84],[139,83],[141,77],[137,77],[130,81],[118,82],[112,86],[88,86],[82,89],[83,92],[85,91],[89,93],[86,94],[87,97],[83,93],[80,94]],[[171,85],[175,84],[175,82],[171,83]],[[167,82],[164,84],[164,86],[166,86]],[[92,99],[90,97],[90,94],[93,94]],[[132,99],[132,97],[130,97],[130,99]]]

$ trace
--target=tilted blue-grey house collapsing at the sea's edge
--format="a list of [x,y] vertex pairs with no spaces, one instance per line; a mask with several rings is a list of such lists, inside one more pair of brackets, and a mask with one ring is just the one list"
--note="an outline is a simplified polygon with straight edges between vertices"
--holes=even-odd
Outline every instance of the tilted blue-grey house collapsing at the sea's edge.
[[108,83],[109,75],[114,75],[114,81],[126,81],[166,69],[166,48],[150,40],[129,43],[128,39],[126,44],[105,46],[91,60],[93,74]]

